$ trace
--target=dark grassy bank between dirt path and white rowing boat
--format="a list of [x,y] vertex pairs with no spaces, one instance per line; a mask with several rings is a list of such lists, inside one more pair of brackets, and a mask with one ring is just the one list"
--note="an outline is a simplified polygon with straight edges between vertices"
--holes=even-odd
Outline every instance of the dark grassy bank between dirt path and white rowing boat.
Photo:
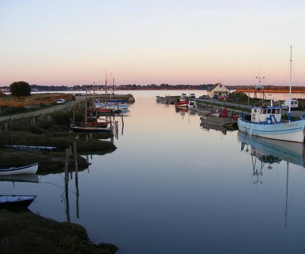
[[[116,146],[109,141],[100,140],[112,137],[112,134],[89,134],[70,133],[70,121],[72,118],[76,122],[83,121],[83,105],[80,103],[75,107],[56,111],[49,114],[42,114],[31,118],[20,118],[12,120],[12,144],[33,145],[33,146],[53,146],[57,147],[57,152],[41,151],[16,151],[10,149],[0,149],[0,166],[21,166],[38,163],[38,174],[64,172],[65,149],[73,143],[77,144],[77,151],[98,152],[105,154],[112,152]],[[8,126],[8,131],[5,131]],[[10,121],[2,122],[0,134],[0,146],[10,144]],[[79,138],[75,138],[79,136]],[[88,139],[86,139],[88,136]],[[88,167],[87,162],[82,157],[78,157],[79,168]],[[74,170],[73,158],[70,158],[70,169]]]

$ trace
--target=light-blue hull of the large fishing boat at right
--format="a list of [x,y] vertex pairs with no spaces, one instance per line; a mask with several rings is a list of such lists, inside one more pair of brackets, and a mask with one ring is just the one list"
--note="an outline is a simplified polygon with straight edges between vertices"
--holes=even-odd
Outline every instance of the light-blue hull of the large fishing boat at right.
[[238,129],[249,135],[292,142],[304,142],[305,120],[280,122],[276,124],[253,123],[241,118],[237,121]]

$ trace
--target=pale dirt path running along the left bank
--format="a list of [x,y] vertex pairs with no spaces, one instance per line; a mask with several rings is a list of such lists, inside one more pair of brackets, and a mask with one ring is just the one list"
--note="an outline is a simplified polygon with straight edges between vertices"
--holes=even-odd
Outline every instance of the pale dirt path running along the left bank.
[[36,115],[40,115],[40,114],[46,114],[46,113],[54,112],[54,111],[57,111],[57,110],[66,109],[66,108],[69,108],[69,107],[72,107],[72,106],[75,106],[76,104],[78,104],[79,100],[83,101],[85,99],[84,96],[75,97],[75,98],[76,98],[75,101],[67,102],[64,105],[56,105],[56,106],[53,106],[53,107],[50,107],[50,108],[47,108],[47,109],[41,109],[41,110],[36,110],[36,111],[32,111],[32,112],[27,112],[27,113],[0,116],[0,122],[8,120],[8,119],[10,119],[10,117],[12,117],[12,119],[18,119],[18,118],[22,118],[22,117],[31,117],[31,116],[36,116]]

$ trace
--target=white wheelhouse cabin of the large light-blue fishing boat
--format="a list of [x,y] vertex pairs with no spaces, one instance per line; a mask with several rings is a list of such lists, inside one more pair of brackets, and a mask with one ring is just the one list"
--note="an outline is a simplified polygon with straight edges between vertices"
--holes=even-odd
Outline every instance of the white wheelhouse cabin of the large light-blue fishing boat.
[[254,107],[251,109],[252,122],[276,123],[282,118],[282,107]]

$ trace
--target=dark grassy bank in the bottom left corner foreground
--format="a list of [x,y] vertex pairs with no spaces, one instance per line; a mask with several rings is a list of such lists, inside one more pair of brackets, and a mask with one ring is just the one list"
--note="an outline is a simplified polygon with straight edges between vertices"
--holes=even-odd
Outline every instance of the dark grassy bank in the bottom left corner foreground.
[[59,223],[31,212],[0,210],[1,253],[115,253],[113,244],[93,244],[77,224]]

